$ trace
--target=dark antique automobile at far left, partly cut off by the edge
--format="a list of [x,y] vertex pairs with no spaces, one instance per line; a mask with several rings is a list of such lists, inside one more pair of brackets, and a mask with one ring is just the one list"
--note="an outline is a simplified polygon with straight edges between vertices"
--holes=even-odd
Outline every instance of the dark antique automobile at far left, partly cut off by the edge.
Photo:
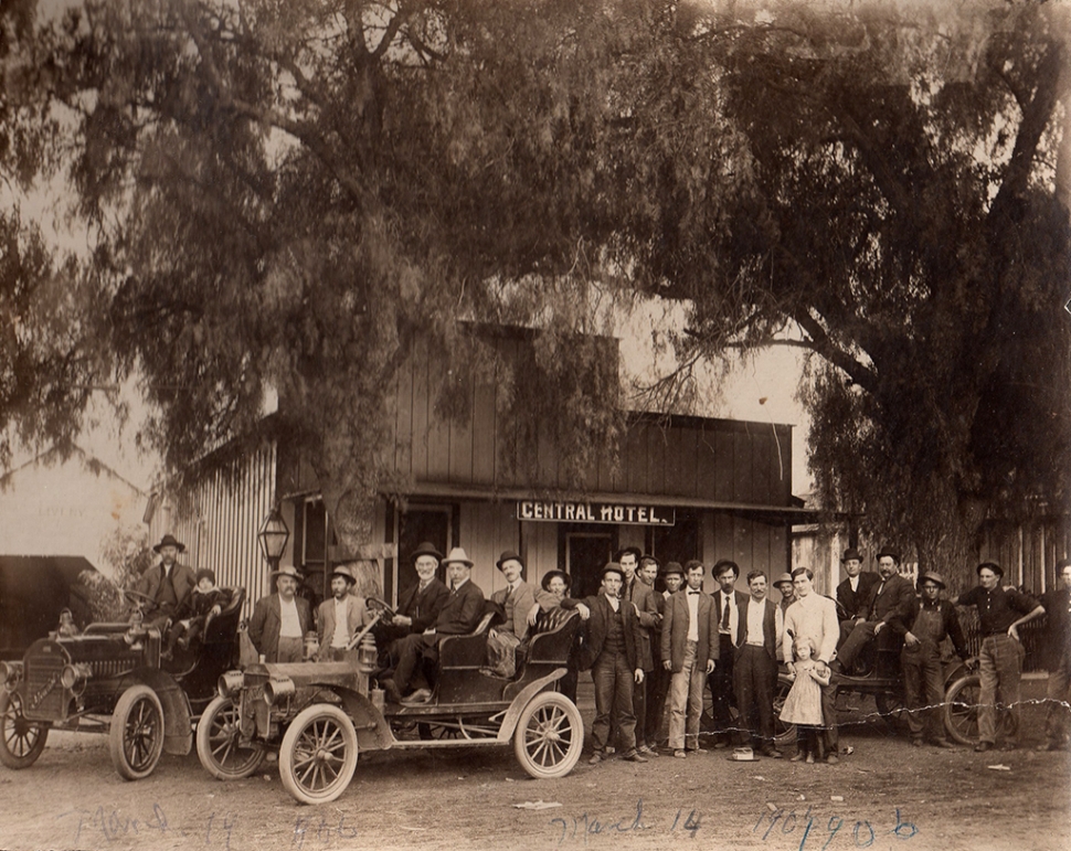
[[165,751],[190,752],[193,723],[210,704],[214,723],[224,723],[226,710],[213,699],[234,664],[245,589],[231,589],[227,606],[172,655],[159,629],[142,626],[144,595],[125,596],[135,605],[129,623],[89,624],[77,635],[61,629],[32,643],[22,661],[0,662],[0,763],[33,765],[50,730],[107,733],[116,772],[137,780]]

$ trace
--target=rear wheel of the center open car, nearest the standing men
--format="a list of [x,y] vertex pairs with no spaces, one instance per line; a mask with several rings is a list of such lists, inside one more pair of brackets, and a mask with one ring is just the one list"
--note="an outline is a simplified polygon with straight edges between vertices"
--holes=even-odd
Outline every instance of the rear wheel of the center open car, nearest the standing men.
[[521,711],[513,731],[513,753],[536,779],[564,777],[583,748],[584,722],[564,694],[540,692]]

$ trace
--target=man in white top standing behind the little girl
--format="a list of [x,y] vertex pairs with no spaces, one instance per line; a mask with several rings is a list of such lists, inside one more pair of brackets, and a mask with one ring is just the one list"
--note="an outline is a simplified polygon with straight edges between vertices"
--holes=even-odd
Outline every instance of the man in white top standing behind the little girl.
[[[837,655],[837,639],[840,637],[840,621],[837,619],[837,604],[829,597],[815,593],[815,574],[809,567],[797,567],[792,572],[792,584],[796,589],[796,602],[785,611],[785,632],[782,648],[788,661],[788,672],[795,673],[791,661],[795,657],[792,642],[800,636],[809,636],[818,653],[815,657],[817,670],[823,678],[829,674],[829,662]],[[826,737],[826,762],[835,765],[839,735],[837,731],[837,687],[830,682],[821,687],[823,730]]]

